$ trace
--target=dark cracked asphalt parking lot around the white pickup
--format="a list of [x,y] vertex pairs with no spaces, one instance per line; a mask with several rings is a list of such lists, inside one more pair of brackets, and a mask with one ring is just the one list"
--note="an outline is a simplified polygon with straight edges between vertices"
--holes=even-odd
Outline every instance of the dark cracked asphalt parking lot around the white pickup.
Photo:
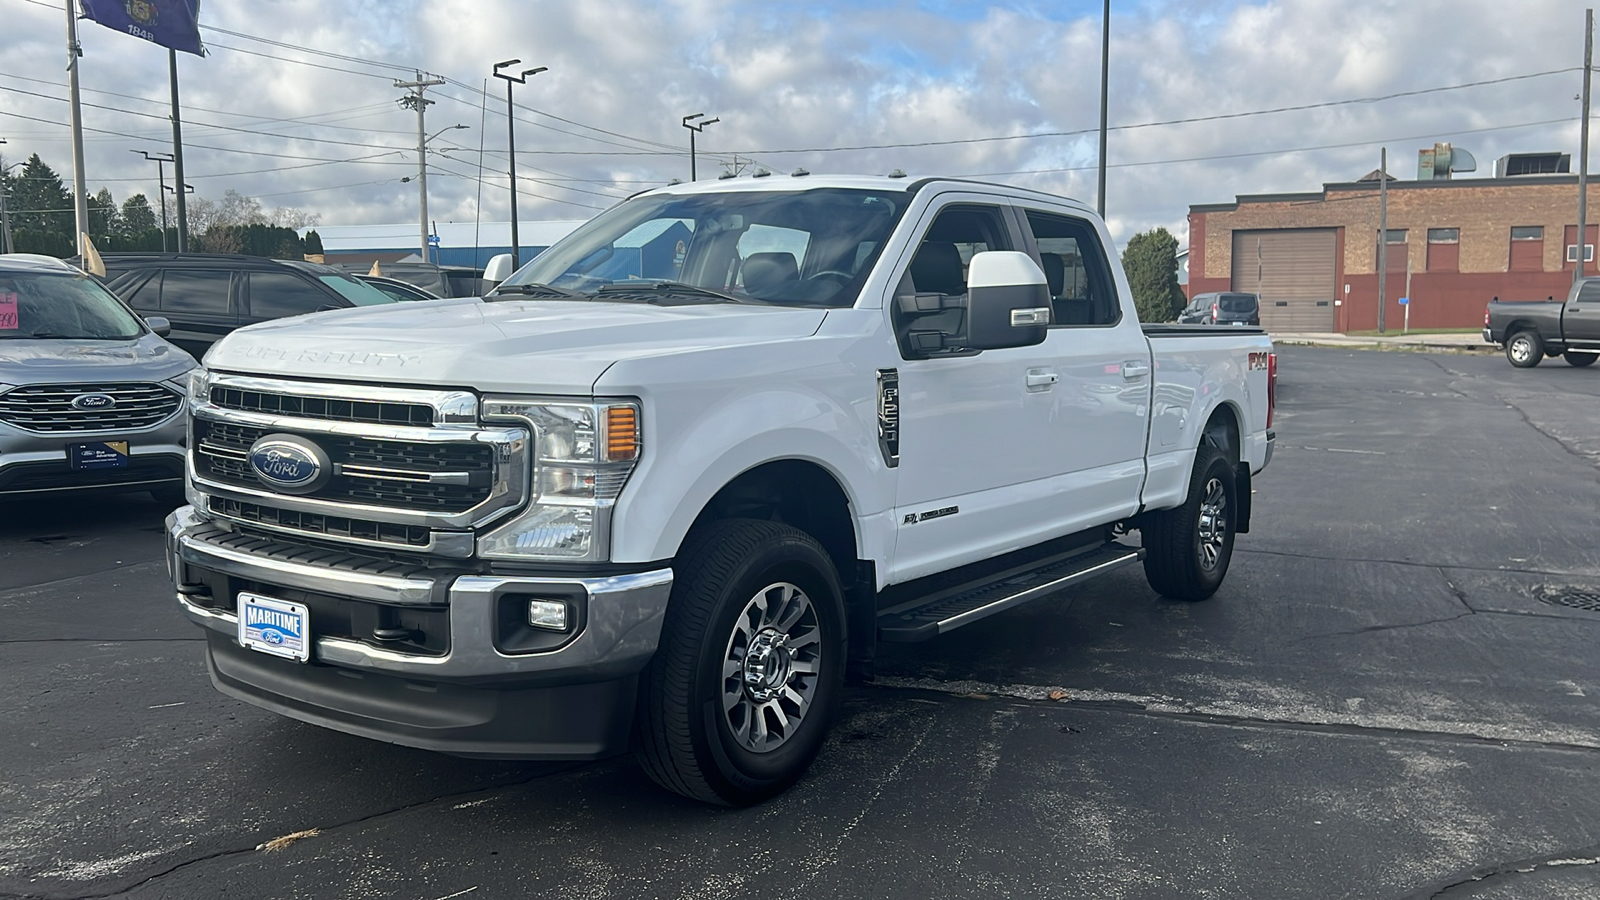
[[224,698],[163,509],[0,506],[0,897],[1600,895],[1600,612],[1554,602],[1600,601],[1600,370],[1280,362],[1214,599],[1126,569],[888,647],[747,810]]

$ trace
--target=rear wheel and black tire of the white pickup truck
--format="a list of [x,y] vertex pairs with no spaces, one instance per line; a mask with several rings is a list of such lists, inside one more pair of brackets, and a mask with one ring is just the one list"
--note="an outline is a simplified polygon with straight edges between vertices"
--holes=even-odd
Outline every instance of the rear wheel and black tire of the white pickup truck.
[[[1214,594],[1234,557],[1237,509],[1234,463],[1221,448],[1202,445],[1182,506],[1147,512],[1139,527],[1150,588],[1174,601],[1195,602]],[[1221,533],[1214,530],[1218,524]]]

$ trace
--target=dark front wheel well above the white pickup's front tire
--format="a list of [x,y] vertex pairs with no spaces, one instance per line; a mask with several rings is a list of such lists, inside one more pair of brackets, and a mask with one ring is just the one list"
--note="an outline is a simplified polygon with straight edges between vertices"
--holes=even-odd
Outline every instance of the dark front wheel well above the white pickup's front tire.
[[856,572],[850,498],[838,480],[816,463],[779,460],[741,474],[710,498],[690,533],[722,519],[768,519],[794,525],[822,544],[845,585]]

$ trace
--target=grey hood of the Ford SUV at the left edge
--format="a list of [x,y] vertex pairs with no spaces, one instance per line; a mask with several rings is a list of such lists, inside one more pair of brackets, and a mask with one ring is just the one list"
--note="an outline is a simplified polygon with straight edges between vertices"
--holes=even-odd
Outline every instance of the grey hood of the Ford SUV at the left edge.
[[155,335],[133,341],[40,338],[0,341],[0,384],[163,381],[195,360]]

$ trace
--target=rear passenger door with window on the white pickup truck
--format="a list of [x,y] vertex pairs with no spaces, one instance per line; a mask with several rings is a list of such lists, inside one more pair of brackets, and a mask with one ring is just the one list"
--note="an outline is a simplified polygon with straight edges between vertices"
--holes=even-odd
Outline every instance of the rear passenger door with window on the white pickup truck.
[[[1154,365],[1150,341],[1125,315],[1101,232],[1083,216],[1021,207],[1050,282],[1053,323],[1042,349],[1056,376],[1038,452],[1038,492],[1054,533],[1133,516],[1144,487]],[[1059,272],[1059,274],[1058,274]]]

